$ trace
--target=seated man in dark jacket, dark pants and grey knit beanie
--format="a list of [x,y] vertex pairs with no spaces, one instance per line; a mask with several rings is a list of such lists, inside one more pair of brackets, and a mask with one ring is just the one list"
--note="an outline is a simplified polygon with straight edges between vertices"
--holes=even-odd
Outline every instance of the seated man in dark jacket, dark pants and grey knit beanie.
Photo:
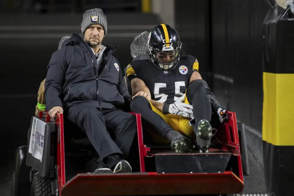
[[112,56],[117,46],[101,45],[107,34],[103,11],[87,10],[81,30],[84,39],[73,34],[51,57],[46,109],[55,117],[64,108],[67,118],[85,131],[100,156],[95,172],[131,172],[124,159],[136,134],[136,118],[120,109],[129,109],[131,97],[119,62]]

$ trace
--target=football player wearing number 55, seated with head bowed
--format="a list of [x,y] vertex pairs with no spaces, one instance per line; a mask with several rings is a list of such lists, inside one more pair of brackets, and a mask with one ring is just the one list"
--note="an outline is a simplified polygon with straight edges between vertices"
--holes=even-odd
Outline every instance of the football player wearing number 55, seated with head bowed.
[[[180,56],[182,43],[175,29],[157,25],[146,42],[150,58],[132,61],[126,70],[134,95],[131,110],[141,113],[143,125],[154,130],[156,134],[150,134],[155,142],[171,141],[171,149],[181,153],[191,151],[190,139],[196,138],[200,152],[208,152],[212,109],[221,117],[226,109],[216,104],[202,80],[198,60],[190,55]],[[139,91],[152,100],[137,96]]]

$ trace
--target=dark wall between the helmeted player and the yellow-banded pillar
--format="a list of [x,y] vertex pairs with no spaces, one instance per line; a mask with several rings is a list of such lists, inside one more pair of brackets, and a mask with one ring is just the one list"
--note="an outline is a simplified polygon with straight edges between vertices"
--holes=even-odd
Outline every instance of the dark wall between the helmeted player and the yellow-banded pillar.
[[248,149],[262,160],[262,22],[268,1],[176,1],[183,52],[198,59],[199,72],[217,100],[245,124]]

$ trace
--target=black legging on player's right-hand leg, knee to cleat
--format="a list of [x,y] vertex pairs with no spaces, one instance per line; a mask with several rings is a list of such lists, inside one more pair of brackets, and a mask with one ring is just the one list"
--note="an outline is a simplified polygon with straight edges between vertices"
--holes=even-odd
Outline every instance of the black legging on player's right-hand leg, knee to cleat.
[[199,120],[211,120],[211,104],[207,97],[207,92],[200,80],[192,81],[186,92],[187,100],[193,105],[193,115],[197,126]]

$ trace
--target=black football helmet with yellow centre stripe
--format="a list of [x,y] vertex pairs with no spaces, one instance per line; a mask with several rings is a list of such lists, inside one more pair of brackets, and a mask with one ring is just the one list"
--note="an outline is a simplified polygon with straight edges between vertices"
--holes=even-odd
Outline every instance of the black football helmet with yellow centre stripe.
[[182,43],[170,25],[155,26],[148,36],[150,60],[164,71],[172,70],[180,60]]

